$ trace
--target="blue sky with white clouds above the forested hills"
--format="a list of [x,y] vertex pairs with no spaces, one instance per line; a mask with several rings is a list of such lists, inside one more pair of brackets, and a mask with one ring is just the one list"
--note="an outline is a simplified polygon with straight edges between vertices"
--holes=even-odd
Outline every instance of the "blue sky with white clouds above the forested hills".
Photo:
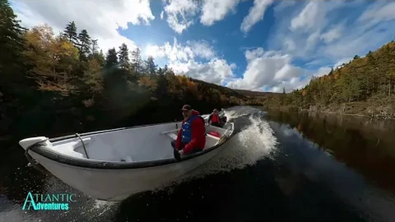
[[103,51],[139,47],[177,75],[287,92],[395,38],[395,2],[368,0],[18,0],[26,27],[75,21]]

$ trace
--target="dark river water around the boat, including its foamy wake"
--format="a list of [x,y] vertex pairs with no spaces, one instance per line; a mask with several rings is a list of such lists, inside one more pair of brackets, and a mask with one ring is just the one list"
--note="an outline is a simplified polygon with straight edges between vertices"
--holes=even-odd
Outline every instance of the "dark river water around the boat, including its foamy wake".
[[[26,167],[15,141],[0,157],[0,221],[395,221],[395,122],[254,107],[226,115],[237,134],[223,152],[121,202]],[[69,211],[24,211],[28,192],[77,201]]]

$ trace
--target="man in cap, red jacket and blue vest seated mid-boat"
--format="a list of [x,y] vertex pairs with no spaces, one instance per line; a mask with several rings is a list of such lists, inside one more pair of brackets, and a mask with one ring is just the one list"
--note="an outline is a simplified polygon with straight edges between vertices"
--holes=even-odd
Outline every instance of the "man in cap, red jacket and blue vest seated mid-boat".
[[177,139],[171,141],[174,148],[174,157],[177,160],[183,154],[202,151],[206,145],[205,122],[200,113],[193,110],[190,105],[184,105],[181,111],[184,115],[184,121],[182,121]]

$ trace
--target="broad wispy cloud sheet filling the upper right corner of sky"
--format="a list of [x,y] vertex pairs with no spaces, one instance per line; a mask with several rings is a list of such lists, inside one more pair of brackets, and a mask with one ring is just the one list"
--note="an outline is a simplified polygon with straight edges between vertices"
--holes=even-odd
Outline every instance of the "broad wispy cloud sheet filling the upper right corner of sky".
[[[309,1],[301,4],[304,5],[300,9],[287,8],[286,13],[285,9],[275,10],[276,28],[269,36],[269,49],[281,50],[302,60],[321,58],[325,64],[335,64],[344,57],[375,50],[395,35],[394,29],[389,28],[395,22],[391,20],[395,15],[388,12],[395,6],[393,2]],[[361,16],[338,10],[354,6]],[[375,19],[381,19],[381,23]]]

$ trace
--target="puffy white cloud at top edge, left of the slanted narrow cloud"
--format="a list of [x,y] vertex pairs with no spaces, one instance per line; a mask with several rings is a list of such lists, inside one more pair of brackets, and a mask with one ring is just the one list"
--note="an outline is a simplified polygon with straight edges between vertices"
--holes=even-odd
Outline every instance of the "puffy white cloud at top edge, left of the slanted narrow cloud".
[[224,19],[240,0],[204,0],[200,22],[204,25],[213,25],[216,21]]

